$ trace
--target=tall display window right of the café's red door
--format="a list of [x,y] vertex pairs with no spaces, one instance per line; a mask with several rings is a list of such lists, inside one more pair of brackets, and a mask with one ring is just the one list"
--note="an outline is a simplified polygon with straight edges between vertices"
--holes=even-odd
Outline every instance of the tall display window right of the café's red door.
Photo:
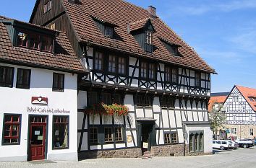
[[69,117],[54,115],[54,149],[69,148]]

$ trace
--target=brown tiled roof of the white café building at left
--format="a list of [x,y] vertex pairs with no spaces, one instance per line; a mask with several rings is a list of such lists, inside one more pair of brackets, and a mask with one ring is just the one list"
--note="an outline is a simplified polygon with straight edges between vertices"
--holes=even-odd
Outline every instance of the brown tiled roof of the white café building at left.
[[56,69],[59,71],[87,72],[72,50],[72,46],[65,32],[59,32],[59,35],[56,37],[54,54],[14,47],[9,38],[6,26],[1,22],[2,19],[7,20],[9,18],[0,16],[0,61]]

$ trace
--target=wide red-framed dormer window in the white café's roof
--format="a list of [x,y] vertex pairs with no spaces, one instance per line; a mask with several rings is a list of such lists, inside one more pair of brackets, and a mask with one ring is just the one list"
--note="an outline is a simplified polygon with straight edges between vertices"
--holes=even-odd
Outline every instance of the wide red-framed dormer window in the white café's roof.
[[53,40],[46,35],[39,35],[32,32],[19,31],[17,33],[17,46],[51,52]]

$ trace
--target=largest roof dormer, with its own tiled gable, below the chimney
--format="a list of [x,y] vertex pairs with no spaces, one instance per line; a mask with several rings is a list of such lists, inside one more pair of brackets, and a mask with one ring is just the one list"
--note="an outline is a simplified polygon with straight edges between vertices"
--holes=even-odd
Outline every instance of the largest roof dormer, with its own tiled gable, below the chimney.
[[128,25],[128,32],[135,37],[137,43],[146,52],[153,52],[153,33],[155,32],[155,28],[150,18],[130,23]]

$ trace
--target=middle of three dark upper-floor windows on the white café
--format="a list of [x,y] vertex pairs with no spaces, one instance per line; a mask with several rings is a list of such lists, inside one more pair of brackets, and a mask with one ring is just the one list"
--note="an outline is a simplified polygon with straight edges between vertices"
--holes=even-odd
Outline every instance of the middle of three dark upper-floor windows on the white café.
[[20,89],[30,89],[30,69],[18,68],[16,87]]

